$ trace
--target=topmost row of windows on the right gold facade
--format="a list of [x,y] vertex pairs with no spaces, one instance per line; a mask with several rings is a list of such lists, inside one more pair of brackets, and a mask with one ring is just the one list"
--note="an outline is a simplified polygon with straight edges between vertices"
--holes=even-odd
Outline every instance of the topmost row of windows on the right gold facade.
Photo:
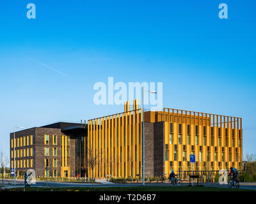
[[[206,136],[206,126],[203,127],[203,134]],[[173,133],[173,123],[170,122],[170,133]],[[182,124],[179,124],[179,134],[182,134]],[[190,125],[187,125],[187,134],[191,135]],[[199,135],[198,126],[195,126],[195,135]],[[238,131],[239,138],[241,138],[241,129]],[[211,127],[211,136],[214,136],[214,127]],[[221,128],[218,128],[218,136],[221,136]],[[225,128],[225,136],[228,137],[228,128]],[[235,130],[232,129],[232,137],[235,137]]]

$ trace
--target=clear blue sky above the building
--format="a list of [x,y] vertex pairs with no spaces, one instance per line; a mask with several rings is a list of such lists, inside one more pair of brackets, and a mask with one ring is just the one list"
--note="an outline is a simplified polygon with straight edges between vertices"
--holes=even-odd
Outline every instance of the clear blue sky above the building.
[[13,125],[122,112],[93,103],[95,82],[114,77],[163,82],[164,107],[242,117],[244,153],[256,153],[255,20],[253,0],[1,2],[0,149]]

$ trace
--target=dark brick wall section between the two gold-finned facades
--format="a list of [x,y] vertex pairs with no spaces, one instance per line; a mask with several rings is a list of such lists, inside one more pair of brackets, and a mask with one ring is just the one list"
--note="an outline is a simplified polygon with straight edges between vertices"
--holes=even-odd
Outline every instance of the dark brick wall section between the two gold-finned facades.
[[164,176],[164,122],[145,122],[145,177]]

